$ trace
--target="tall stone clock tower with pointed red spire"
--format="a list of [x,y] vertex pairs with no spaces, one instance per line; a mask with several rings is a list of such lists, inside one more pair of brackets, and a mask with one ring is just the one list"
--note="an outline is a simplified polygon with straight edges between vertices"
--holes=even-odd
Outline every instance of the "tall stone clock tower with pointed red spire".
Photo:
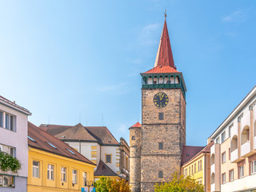
[[[154,68],[141,75],[141,191],[153,192],[156,182],[170,182],[175,171],[181,173],[186,145],[186,85],[174,66],[166,19]],[[130,173],[130,180],[135,176]]]

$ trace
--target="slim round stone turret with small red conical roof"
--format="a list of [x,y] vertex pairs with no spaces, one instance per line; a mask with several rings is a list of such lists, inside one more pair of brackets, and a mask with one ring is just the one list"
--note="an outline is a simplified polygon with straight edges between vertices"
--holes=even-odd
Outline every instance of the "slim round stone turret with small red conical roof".
[[141,191],[141,143],[142,125],[137,122],[130,130],[130,189],[133,192]]

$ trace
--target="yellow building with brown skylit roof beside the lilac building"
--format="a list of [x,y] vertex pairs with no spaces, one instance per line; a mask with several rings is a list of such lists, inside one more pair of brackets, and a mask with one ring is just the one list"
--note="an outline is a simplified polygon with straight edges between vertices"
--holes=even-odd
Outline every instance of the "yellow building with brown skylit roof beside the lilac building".
[[74,192],[93,183],[93,162],[30,122],[28,145],[28,192]]

